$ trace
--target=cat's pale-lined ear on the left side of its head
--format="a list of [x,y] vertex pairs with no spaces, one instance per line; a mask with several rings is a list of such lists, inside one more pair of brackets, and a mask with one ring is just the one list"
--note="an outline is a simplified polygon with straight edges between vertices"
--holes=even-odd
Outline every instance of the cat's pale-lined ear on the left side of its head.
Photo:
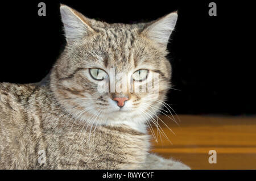
[[60,14],[68,43],[94,32],[89,26],[89,18],[71,7],[60,5]]

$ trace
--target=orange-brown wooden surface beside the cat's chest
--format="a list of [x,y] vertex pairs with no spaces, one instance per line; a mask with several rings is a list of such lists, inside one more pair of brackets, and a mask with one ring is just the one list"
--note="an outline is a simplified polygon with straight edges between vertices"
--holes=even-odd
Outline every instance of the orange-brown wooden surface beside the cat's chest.
[[[192,169],[256,169],[256,116],[221,117],[179,115],[179,126],[167,116],[159,116],[168,139],[154,128],[158,143],[152,152],[175,158]],[[217,163],[210,164],[209,150],[216,150]]]

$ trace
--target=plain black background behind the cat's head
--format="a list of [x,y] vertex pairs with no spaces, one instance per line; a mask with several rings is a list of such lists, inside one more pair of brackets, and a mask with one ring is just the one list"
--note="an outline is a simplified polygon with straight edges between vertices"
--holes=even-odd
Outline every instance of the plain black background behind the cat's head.
[[[46,16],[38,16],[38,3]],[[246,2],[213,1],[6,1],[1,2],[0,82],[38,82],[47,75],[65,46],[60,3],[88,18],[109,23],[150,21],[178,10],[168,45],[174,88],[168,103],[177,113],[256,113],[255,23]]]

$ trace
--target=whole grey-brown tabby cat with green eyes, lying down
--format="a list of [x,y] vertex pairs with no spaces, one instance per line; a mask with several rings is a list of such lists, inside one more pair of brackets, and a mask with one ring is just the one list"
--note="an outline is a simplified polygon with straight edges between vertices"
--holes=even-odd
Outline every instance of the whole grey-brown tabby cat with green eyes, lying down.
[[[171,87],[177,12],[138,24],[100,22],[66,5],[60,13],[67,45],[49,79],[0,83],[0,169],[190,169],[150,153],[146,126]],[[100,82],[117,82],[110,70],[131,73],[127,84],[139,90],[158,73],[158,92],[100,92]]]

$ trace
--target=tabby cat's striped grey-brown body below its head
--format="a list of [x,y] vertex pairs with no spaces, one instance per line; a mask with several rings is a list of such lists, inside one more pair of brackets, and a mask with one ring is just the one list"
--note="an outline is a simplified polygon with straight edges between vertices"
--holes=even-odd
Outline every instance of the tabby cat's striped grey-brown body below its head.
[[[0,87],[1,169],[121,169],[145,161],[146,134],[128,127],[86,129],[84,122],[61,115],[48,87]],[[42,165],[40,150],[46,151]]]

